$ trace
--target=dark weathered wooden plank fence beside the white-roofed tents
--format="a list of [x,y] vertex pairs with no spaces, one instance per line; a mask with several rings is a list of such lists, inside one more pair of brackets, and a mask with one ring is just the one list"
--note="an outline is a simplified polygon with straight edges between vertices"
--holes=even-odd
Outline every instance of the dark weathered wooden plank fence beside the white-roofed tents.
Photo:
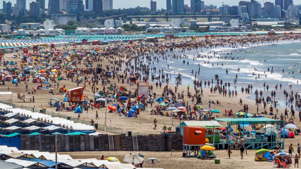
[[[126,136],[58,135],[58,151],[171,151],[182,150],[182,135]],[[21,135],[21,150],[55,151],[55,135]]]

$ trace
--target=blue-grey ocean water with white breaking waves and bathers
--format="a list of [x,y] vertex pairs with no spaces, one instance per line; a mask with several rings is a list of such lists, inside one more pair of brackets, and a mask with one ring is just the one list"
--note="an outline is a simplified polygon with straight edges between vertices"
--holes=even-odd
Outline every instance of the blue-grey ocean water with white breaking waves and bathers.
[[[236,51],[236,52],[235,52]],[[211,53],[210,53],[211,52]],[[213,52],[218,52],[213,56]],[[232,53],[232,54],[231,54]],[[211,55],[212,58],[196,58],[198,54]],[[176,56],[187,55],[188,58],[173,59],[167,55],[167,60],[162,56],[159,56],[159,62],[154,61],[154,64],[150,64],[150,67],[156,67],[155,76],[159,76],[159,69],[163,69],[164,74],[171,76],[169,83],[175,83],[175,77],[181,73],[182,84],[189,84],[193,87],[193,80],[206,80],[213,79],[213,85],[216,84],[215,75],[219,75],[219,79],[225,82],[231,83],[231,90],[237,90],[240,92],[241,87],[246,87],[248,84],[252,84],[253,93],[250,94],[250,98],[254,99],[254,91],[263,90],[263,83],[265,82],[270,86],[269,92],[263,92],[263,96],[270,96],[271,90],[275,90],[275,85],[278,84],[278,90],[276,90],[276,98],[279,98],[280,107],[285,107],[287,101],[283,96],[283,89],[289,90],[289,85],[292,85],[292,90],[301,93],[301,42],[300,40],[295,41],[281,41],[275,43],[263,43],[253,44],[250,46],[229,48],[229,47],[218,47],[213,49],[198,49],[192,51],[185,51],[184,53],[177,51]],[[218,56],[231,56],[235,59],[227,57],[221,58]],[[195,60],[193,58],[195,57]],[[239,58],[238,58],[239,57]],[[185,63],[183,63],[185,60]],[[209,61],[209,63],[208,63]],[[189,65],[187,64],[189,62]],[[206,63],[205,63],[206,62]],[[196,74],[195,71],[199,70],[200,74]],[[169,66],[169,68],[167,68]],[[268,68],[273,67],[274,73],[268,71]],[[238,68],[240,69],[238,71]],[[228,69],[228,75],[226,74]],[[256,70],[254,70],[256,69]],[[285,70],[282,73],[282,69]],[[192,70],[194,73],[192,74]],[[265,72],[264,72],[265,71]],[[151,74],[150,73],[150,74]],[[233,81],[235,76],[238,76],[237,86],[234,85]],[[258,79],[258,74],[260,78]],[[257,76],[257,79],[255,78]],[[149,77],[151,79],[151,76]],[[157,80],[155,80],[157,81]],[[282,90],[280,90],[280,83],[282,84]],[[203,83],[204,84],[204,83]],[[211,85],[210,85],[211,86]]]

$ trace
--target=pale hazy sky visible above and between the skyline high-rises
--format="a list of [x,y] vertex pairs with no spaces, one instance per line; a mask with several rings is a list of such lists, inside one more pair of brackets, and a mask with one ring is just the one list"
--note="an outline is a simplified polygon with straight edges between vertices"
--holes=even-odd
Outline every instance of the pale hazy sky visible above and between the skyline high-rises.
[[[6,2],[10,1],[12,2],[12,5],[16,3],[16,0],[4,0]],[[35,0],[26,0],[26,7],[29,9],[29,3],[35,1]],[[164,8],[166,9],[166,0],[155,0],[157,2],[157,8],[161,9]],[[185,4],[190,6],[190,0],[184,0]],[[204,0],[205,5],[216,5],[216,6],[221,6],[224,2],[226,5],[238,5],[238,2],[240,0]],[[249,0],[245,0],[249,1]],[[261,4],[263,2],[275,2],[274,0],[258,0]],[[85,3],[85,0],[83,0]],[[301,4],[301,0],[293,0],[294,4]],[[46,8],[48,6],[48,0],[45,0],[45,5]],[[149,7],[150,8],[150,0],[113,0],[113,8],[114,9],[119,9],[119,8],[131,8],[131,7],[136,7],[136,6],[141,6],[141,7]],[[2,1],[0,4],[0,9],[2,9]]]

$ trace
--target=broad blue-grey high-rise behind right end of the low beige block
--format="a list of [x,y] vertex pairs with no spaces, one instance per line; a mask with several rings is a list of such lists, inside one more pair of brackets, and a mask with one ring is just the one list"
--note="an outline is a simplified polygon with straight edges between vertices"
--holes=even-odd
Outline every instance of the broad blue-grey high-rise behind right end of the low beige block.
[[69,0],[68,13],[77,15],[77,21],[84,20],[84,8],[82,0]]

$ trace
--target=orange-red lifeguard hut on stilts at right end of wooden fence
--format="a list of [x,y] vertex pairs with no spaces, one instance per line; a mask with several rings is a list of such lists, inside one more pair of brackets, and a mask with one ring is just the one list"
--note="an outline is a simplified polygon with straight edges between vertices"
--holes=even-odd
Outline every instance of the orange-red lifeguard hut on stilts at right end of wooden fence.
[[206,129],[183,126],[183,150],[185,157],[197,157],[199,148],[206,145]]

